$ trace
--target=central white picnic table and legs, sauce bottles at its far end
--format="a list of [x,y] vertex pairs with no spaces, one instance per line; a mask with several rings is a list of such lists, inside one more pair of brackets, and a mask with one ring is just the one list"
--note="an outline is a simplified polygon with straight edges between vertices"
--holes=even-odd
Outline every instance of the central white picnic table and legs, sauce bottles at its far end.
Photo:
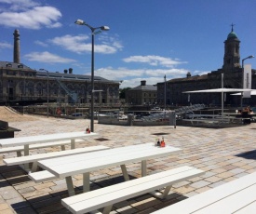
[[141,176],[146,176],[148,159],[168,156],[182,152],[182,149],[167,145],[156,147],[153,142],[125,147],[117,147],[91,154],[74,154],[65,157],[38,161],[38,166],[55,177],[65,178],[69,195],[74,195],[72,176],[83,174],[83,190],[89,191],[89,173],[107,167],[120,165],[125,181],[128,181],[126,164],[141,161]]

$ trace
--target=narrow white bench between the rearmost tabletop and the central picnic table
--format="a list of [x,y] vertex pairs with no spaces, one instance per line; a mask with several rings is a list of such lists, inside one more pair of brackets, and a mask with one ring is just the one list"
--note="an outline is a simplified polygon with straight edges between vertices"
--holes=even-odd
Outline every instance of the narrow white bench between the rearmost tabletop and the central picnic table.
[[105,149],[109,149],[109,147],[102,146],[102,145],[88,146],[85,148],[77,148],[74,150],[65,150],[65,151],[52,152],[47,154],[32,154],[27,156],[12,157],[12,158],[4,159],[3,161],[7,166],[13,166],[13,165],[20,165],[25,163],[32,163],[34,161],[44,160],[47,158],[61,157],[61,156],[67,156],[72,154],[84,154],[84,153],[89,153],[93,151],[101,151]]

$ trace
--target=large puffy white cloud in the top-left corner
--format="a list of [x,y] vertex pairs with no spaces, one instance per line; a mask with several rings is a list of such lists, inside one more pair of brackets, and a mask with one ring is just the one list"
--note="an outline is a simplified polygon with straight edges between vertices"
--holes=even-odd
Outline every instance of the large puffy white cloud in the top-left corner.
[[47,28],[61,27],[61,23],[58,21],[61,19],[61,11],[56,7],[39,7],[37,3],[29,0],[0,1],[11,5],[9,8],[1,10],[1,25],[35,30],[44,26]]

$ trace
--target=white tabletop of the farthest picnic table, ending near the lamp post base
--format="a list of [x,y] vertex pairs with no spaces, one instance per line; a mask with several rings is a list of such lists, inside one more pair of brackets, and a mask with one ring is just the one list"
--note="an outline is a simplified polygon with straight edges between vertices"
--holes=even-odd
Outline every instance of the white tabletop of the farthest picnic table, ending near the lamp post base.
[[2,139],[0,140],[0,145],[2,147],[29,145],[33,143],[49,142],[49,141],[74,140],[79,138],[84,139],[84,138],[92,137],[95,135],[98,135],[98,134],[93,132],[88,134],[85,131],[65,132],[65,133],[57,133],[57,134],[50,134],[50,135],[37,135],[37,136],[30,136],[30,137]]

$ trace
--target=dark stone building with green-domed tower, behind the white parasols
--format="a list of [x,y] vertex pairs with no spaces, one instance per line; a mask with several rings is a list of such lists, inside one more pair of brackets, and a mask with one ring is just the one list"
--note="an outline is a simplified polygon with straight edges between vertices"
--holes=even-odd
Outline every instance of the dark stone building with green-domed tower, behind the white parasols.
[[[171,79],[166,82],[166,104],[167,105],[190,105],[204,103],[212,106],[220,106],[222,103],[221,93],[195,93],[184,94],[184,91],[203,90],[222,87],[242,88],[243,69],[240,64],[240,41],[233,30],[224,41],[224,57],[221,69],[212,71],[209,74],[192,76],[190,73],[184,78]],[[256,88],[256,70],[251,70],[251,88]],[[157,102],[164,104],[165,83],[157,83]],[[233,96],[226,93],[225,106],[239,106],[240,96]],[[255,105],[256,96],[244,99],[244,104]]]

